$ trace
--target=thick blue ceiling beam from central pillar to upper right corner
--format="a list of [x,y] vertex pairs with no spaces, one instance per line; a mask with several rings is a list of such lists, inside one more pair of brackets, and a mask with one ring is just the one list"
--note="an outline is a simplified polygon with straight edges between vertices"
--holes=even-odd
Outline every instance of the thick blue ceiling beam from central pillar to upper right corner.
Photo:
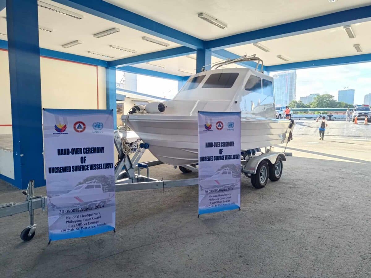
[[371,6],[365,6],[209,40],[205,42],[205,48],[215,51],[227,47],[305,34],[370,20]]

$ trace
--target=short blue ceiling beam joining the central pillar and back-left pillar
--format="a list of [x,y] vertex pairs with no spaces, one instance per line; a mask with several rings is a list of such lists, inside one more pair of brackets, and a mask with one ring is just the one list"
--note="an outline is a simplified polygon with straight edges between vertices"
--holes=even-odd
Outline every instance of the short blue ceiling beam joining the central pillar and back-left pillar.
[[147,63],[155,60],[174,58],[179,56],[184,56],[188,54],[194,54],[196,50],[180,46],[171,49],[161,50],[157,52],[151,52],[146,54],[141,54],[137,56],[131,56],[123,59],[118,59],[109,62],[110,67],[122,67],[122,66],[131,66],[133,64]]

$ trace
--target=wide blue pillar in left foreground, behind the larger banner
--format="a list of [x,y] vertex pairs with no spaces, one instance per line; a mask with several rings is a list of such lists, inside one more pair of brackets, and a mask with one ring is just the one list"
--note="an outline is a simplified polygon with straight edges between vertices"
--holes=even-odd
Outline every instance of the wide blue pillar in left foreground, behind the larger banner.
[[12,106],[14,183],[45,185],[36,0],[7,0],[6,17]]

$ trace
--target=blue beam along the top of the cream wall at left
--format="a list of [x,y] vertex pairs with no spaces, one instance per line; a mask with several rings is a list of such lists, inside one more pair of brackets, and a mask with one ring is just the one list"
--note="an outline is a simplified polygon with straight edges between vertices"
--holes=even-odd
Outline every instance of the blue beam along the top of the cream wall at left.
[[[0,40],[0,49],[8,49],[8,42],[6,40]],[[50,57],[60,60],[67,60],[76,63],[91,64],[93,66],[107,67],[108,62],[95,58],[69,54],[65,52],[50,50],[46,48],[40,48],[40,56]]]

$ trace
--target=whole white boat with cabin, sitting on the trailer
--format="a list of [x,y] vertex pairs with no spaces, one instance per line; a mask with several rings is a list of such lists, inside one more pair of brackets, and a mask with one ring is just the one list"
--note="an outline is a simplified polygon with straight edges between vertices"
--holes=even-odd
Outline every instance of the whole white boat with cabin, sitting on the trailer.
[[[260,59],[243,56],[191,76],[173,100],[149,103],[127,116],[128,126],[160,161],[170,165],[198,163],[198,111],[241,112],[241,149],[285,143],[293,121],[276,119],[273,78],[248,68],[218,67]],[[141,107],[133,109],[142,110]],[[122,117],[125,120],[125,116]],[[216,123],[205,123],[215,125]]]

